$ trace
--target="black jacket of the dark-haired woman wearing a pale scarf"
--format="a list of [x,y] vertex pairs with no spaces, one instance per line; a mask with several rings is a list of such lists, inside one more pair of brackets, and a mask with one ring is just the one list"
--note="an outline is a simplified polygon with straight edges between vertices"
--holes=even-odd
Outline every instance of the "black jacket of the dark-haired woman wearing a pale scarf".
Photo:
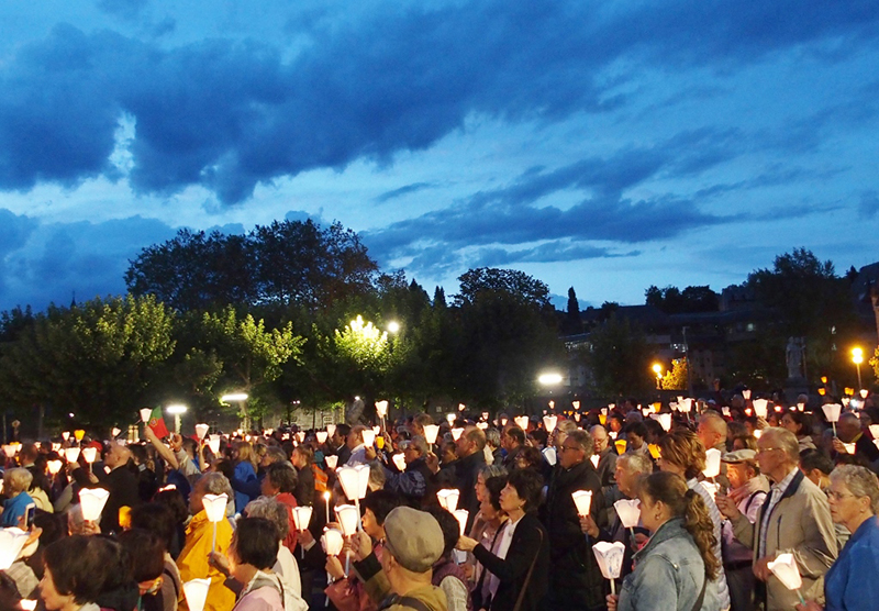
[[[526,513],[515,527],[507,558],[499,558],[482,545],[474,548],[476,559],[500,579],[491,601],[491,611],[512,611],[523,586],[525,595],[520,611],[535,611],[538,608],[549,578],[548,538],[537,516]],[[534,571],[525,585],[532,563]]]

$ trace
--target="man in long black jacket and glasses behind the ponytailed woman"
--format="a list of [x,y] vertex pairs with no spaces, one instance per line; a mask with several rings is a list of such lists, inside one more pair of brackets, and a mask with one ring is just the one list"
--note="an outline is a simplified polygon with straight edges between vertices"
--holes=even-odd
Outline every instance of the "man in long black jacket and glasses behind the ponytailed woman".
[[549,535],[549,588],[543,608],[582,610],[604,608],[604,581],[591,544],[580,530],[580,519],[571,493],[592,492],[589,513],[599,524],[607,524],[601,480],[589,457],[592,438],[586,431],[571,431],[558,449],[558,465],[553,471],[543,507],[543,523]]

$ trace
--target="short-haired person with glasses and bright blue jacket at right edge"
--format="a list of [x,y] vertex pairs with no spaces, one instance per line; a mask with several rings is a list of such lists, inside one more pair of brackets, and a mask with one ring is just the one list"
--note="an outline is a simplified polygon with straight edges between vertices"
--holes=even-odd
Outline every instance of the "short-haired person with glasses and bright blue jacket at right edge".
[[[843,465],[831,474],[827,492],[831,516],[852,533],[839,557],[824,576],[825,607],[838,611],[868,611],[879,601],[879,480],[865,467]],[[798,611],[820,611],[810,600]]]

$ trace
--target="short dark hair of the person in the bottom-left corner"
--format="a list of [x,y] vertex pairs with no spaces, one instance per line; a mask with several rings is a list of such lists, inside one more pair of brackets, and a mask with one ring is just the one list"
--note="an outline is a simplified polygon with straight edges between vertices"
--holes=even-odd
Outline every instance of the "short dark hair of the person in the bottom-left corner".
[[114,574],[126,567],[122,549],[115,541],[105,536],[71,535],[46,547],[43,563],[52,574],[55,589],[62,595],[71,595],[78,604],[96,602]]

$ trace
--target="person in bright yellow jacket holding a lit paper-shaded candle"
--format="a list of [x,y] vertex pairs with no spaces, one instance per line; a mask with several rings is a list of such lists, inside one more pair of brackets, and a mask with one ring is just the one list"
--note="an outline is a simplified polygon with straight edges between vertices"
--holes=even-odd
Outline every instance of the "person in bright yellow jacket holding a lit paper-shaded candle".
[[[235,595],[224,586],[225,576],[209,563],[209,556],[212,549],[222,555],[226,554],[232,543],[232,524],[225,519],[218,522],[214,541],[214,525],[208,520],[202,502],[205,495],[226,495],[229,499],[234,498],[229,479],[221,473],[204,474],[196,482],[189,495],[192,520],[186,527],[186,543],[177,557],[177,568],[180,570],[180,581],[183,584],[191,579],[211,580],[204,611],[230,611],[235,606]],[[182,590],[179,593],[177,611],[188,611]]]

